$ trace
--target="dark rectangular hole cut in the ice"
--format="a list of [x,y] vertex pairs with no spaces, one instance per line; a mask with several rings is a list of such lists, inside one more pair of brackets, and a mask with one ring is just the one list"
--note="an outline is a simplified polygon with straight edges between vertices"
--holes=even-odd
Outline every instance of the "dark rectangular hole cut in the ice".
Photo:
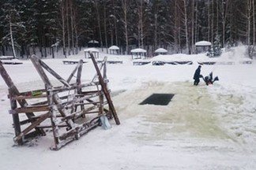
[[146,98],[140,105],[168,105],[175,94],[152,94]]

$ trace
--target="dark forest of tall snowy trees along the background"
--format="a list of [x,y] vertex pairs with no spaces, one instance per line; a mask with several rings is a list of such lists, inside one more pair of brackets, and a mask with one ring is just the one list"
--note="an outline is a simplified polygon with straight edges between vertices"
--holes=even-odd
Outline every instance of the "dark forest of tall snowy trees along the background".
[[[77,54],[88,41],[100,47],[158,47],[194,54],[194,43],[255,46],[256,0],[1,0],[0,55]],[[53,56],[54,57],[54,56]],[[251,55],[250,55],[251,57]]]

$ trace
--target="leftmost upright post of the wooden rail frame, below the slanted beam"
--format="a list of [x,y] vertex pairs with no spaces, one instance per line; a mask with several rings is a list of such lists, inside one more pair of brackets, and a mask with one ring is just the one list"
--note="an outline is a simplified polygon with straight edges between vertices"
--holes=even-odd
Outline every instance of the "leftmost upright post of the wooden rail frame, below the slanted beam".
[[[11,109],[17,109],[17,101],[13,99],[13,91],[12,89],[9,88],[9,101],[11,105]],[[14,132],[15,132],[15,137],[18,135],[21,135],[21,123],[20,123],[20,117],[19,114],[12,114],[13,116],[13,126],[14,126]],[[17,141],[18,145],[22,145],[23,141],[22,139],[19,139]]]

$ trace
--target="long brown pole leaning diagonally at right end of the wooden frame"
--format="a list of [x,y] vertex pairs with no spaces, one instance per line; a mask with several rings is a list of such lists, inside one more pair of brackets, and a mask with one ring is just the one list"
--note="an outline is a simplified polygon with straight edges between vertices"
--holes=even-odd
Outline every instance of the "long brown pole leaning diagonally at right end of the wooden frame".
[[98,67],[98,65],[96,63],[96,60],[93,57],[92,53],[90,53],[90,56],[92,58],[92,63],[94,65],[94,67],[96,68],[96,72],[98,73],[100,85],[102,87],[102,90],[104,91],[105,97],[107,99],[107,103],[109,105],[109,109],[112,111],[112,114],[113,114],[113,116],[115,118],[115,124],[120,124],[119,117],[117,116],[117,114],[115,112],[115,107],[113,105],[113,102],[111,101],[111,96],[110,96],[110,94],[107,91],[107,87],[106,87],[106,84],[104,83],[104,79],[101,76],[100,69],[99,69],[99,67]]

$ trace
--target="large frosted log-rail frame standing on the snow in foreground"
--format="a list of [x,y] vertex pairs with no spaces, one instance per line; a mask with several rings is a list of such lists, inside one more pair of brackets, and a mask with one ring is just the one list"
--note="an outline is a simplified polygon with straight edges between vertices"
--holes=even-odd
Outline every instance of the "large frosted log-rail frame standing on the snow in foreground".
[[[59,150],[67,143],[79,139],[81,135],[101,125],[100,117],[111,119],[114,116],[115,123],[120,124],[107,89],[107,57],[99,68],[93,55],[90,55],[96,68],[96,75],[88,83],[81,83],[83,61],[77,64],[68,79],[63,79],[33,55],[30,59],[40,74],[45,88],[25,92],[17,90],[0,61],[2,78],[9,87],[8,97],[11,105],[9,113],[13,116],[14,142],[22,145],[28,138],[46,135],[45,129],[50,128],[54,138],[51,149]],[[100,71],[101,69],[103,71]],[[54,87],[45,71],[58,79],[62,86]],[[75,83],[71,83],[73,77],[76,77]],[[40,102],[35,103],[35,99],[40,99]],[[105,105],[108,107],[105,108]],[[23,113],[27,118],[20,116]]]

